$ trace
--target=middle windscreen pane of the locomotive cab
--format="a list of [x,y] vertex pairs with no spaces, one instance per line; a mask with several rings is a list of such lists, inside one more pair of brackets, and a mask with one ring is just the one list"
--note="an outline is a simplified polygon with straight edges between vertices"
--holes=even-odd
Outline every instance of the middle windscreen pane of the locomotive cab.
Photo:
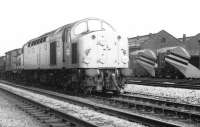
[[99,20],[88,20],[89,31],[101,30],[101,22]]

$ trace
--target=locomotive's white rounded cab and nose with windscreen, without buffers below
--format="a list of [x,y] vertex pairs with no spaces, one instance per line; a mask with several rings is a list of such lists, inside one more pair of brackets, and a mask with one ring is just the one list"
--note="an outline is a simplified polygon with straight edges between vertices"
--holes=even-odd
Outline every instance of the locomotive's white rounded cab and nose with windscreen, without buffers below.
[[88,19],[74,25],[71,41],[77,43],[77,61],[82,68],[128,67],[127,38],[103,20]]

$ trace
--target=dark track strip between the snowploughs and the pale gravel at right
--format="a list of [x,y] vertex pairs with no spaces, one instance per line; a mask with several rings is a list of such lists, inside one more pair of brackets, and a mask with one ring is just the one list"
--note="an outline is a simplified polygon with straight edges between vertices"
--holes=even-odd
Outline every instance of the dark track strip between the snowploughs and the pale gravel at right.
[[155,78],[130,78],[128,84],[173,87],[185,89],[200,89],[199,79],[155,79]]

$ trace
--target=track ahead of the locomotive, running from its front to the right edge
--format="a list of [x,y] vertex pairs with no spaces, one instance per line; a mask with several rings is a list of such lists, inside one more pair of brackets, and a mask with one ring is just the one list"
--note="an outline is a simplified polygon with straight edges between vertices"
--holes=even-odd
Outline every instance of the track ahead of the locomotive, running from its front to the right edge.
[[180,119],[182,121],[200,124],[200,106],[186,104],[186,103],[177,103],[175,101],[171,101],[168,98],[152,98],[145,97],[141,95],[120,95],[118,98],[112,98],[113,101],[119,101],[124,104],[129,104],[131,107],[140,107],[145,109],[146,111],[156,112],[159,111],[158,114],[175,117],[175,119]]

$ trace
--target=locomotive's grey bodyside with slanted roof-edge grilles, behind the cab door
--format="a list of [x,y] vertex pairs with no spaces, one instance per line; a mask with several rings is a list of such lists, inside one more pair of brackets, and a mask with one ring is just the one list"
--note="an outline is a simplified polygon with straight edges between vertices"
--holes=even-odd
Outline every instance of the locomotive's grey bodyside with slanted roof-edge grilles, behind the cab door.
[[[48,35],[38,37],[24,45],[24,70],[36,69],[56,69],[62,66],[60,62],[60,39],[58,34],[49,33]],[[53,39],[52,39],[53,38]],[[50,57],[50,45],[54,44],[54,56]],[[52,64],[52,60],[54,63]],[[51,60],[51,61],[50,61]]]

